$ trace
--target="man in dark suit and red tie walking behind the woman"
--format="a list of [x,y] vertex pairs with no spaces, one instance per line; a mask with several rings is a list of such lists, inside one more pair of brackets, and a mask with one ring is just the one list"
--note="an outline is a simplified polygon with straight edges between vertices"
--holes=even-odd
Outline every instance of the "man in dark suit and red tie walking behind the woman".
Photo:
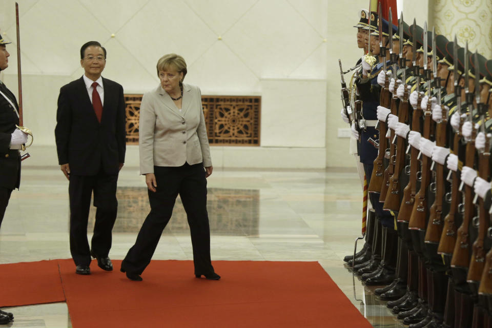
[[[91,41],[80,48],[85,73],[61,87],[56,113],[56,148],[69,182],[70,252],[76,273],[89,275],[91,256],[106,271],[118,202],[116,181],[125,161],[125,99],[121,85],[101,77],[106,49]],[[91,248],[87,222],[94,193],[96,220]]]

